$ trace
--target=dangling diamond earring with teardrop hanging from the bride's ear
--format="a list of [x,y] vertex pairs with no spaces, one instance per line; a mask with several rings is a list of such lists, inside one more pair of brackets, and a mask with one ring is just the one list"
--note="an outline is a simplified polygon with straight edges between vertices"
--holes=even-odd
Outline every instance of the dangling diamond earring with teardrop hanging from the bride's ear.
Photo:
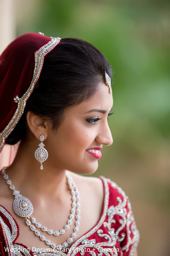
[[35,159],[37,159],[38,162],[41,163],[40,165],[40,169],[43,169],[42,163],[47,160],[48,158],[48,151],[44,148],[44,144],[42,143],[42,141],[44,141],[44,135],[40,136],[40,141],[41,143],[39,144],[39,148],[37,148],[37,150],[35,151]]

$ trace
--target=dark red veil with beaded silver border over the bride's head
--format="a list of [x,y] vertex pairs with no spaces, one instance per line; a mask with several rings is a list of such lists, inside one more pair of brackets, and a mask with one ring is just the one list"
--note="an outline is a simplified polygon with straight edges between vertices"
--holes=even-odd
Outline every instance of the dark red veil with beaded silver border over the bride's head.
[[0,55],[0,151],[23,114],[45,55],[59,42],[60,38],[28,33],[11,42]]

